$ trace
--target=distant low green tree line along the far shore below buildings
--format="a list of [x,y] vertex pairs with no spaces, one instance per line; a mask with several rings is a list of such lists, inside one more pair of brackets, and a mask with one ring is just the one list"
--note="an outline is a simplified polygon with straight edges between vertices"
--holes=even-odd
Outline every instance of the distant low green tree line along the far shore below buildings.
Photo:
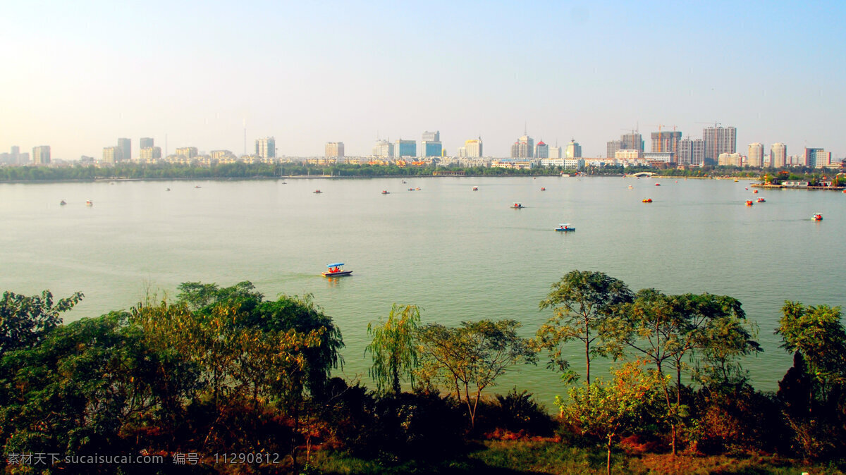
[[[216,178],[273,178],[292,176],[331,177],[415,177],[431,176],[434,172],[464,172],[475,177],[486,176],[530,176],[548,175],[575,170],[563,167],[537,167],[531,169],[499,167],[398,167],[397,165],[354,165],[338,163],[332,165],[310,165],[306,163],[222,163],[209,167],[179,163],[118,163],[113,167],[74,165],[73,167],[0,167],[0,182],[43,182],[96,179],[216,179]],[[635,172],[659,172],[672,177],[750,177],[762,180],[806,180],[820,183],[823,177],[832,177],[836,172],[823,173],[810,167],[789,167],[779,170],[761,170],[749,167],[591,167],[581,171],[587,175],[622,175]],[[846,177],[835,177],[841,186]]]

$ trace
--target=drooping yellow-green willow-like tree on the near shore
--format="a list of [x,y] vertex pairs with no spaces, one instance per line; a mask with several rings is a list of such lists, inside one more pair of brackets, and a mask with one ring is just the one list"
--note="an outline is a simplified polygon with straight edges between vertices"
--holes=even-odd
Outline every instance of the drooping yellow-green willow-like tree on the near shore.
[[414,385],[419,326],[420,309],[416,305],[396,303],[387,315],[387,321],[379,321],[378,325],[373,325],[373,322],[367,324],[367,334],[373,337],[373,341],[365,348],[365,355],[370,352],[373,358],[369,373],[378,390],[390,385],[393,396],[398,396],[399,379],[404,376]]

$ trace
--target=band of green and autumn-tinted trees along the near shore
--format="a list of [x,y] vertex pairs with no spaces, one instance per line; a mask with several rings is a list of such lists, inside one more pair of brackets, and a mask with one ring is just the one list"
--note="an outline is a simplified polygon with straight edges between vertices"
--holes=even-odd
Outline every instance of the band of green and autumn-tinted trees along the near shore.
[[[310,296],[268,300],[248,281],[186,282],[173,301],[148,297],[64,325],[81,298],[3,293],[7,456],[261,452],[297,472],[318,448],[395,463],[508,436],[602,447],[610,472],[633,440],[668,456],[763,451],[841,463],[846,450],[838,307],[784,304],[776,332],[794,364],[776,393],[762,392],[742,367],[761,347],[736,299],[633,292],[573,270],[539,304],[552,316],[532,337],[514,319],[450,327],[394,304],[367,326],[368,389],[332,377],[343,338]],[[610,373],[596,374],[596,358],[615,362]],[[525,390],[490,396],[502,374],[541,362],[567,390],[557,414]]]

